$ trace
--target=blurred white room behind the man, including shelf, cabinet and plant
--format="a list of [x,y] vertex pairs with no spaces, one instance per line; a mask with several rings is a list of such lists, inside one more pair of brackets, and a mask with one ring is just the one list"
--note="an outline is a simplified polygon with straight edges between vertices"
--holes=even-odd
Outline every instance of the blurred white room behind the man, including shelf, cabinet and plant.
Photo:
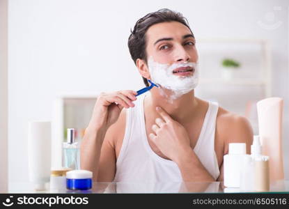
[[283,157],[289,179],[287,0],[6,2],[8,24],[1,26],[8,36],[1,50],[7,49],[8,67],[1,66],[7,69],[2,101],[8,106],[1,112],[8,109],[9,183],[29,179],[28,121],[53,121],[54,166],[64,130],[75,127],[81,139],[98,93],[143,88],[127,38],[136,20],[160,8],[182,13],[194,32],[201,73],[196,96],[246,116],[254,134],[256,102],[283,98]]

